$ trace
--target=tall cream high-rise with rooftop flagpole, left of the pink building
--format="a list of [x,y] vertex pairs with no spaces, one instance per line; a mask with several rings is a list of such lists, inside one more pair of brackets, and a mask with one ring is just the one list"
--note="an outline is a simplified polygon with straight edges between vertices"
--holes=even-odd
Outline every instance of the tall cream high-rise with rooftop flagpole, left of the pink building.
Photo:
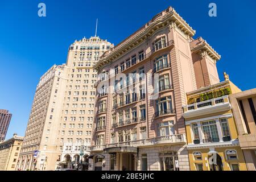
[[113,44],[98,36],[75,41],[67,63],[53,65],[36,88],[16,169],[87,169],[97,72],[93,65]]

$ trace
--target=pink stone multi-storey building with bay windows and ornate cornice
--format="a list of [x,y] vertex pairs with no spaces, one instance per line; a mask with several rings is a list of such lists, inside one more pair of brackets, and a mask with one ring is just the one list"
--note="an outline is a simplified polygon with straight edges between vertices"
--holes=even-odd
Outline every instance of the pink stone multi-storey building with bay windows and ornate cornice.
[[220,82],[220,56],[193,35],[168,7],[104,53],[94,66],[99,76],[89,170],[191,168],[186,93]]

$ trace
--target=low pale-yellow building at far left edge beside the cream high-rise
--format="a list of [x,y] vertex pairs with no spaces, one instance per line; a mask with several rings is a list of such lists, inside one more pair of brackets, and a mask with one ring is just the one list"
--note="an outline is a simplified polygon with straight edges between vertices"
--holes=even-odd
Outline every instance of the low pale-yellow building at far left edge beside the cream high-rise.
[[14,134],[13,138],[0,143],[0,171],[14,171],[18,163],[23,137]]

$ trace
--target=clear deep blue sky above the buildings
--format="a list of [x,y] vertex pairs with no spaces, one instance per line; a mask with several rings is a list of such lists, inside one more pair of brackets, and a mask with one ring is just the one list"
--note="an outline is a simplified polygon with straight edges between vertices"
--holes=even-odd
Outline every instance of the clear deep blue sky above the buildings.
[[[44,2],[47,17],[39,18]],[[208,16],[210,2],[217,17]],[[13,113],[7,138],[24,135],[36,84],[53,64],[65,63],[68,46],[76,39],[98,35],[115,45],[155,14],[173,6],[222,56],[218,73],[226,71],[242,90],[256,87],[256,1],[208,0],[26,0],[0,5],[0,109]]]

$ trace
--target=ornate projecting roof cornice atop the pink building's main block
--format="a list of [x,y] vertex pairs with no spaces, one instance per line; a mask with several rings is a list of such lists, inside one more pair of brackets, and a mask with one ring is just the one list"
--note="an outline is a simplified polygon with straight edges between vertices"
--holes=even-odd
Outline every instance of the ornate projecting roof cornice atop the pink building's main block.
[[123,40],[117,46],[106,51],[101,57],[94,69],[100,70],[102,66],[108,63],[112,63],[118,57],[124,55],[130,49],[138,46],[145,40],[148,40],[156,30],[160,28],[169,26],[170,24],[175,24],[174,26],[179,27],[185,34],[189,37],[195,35],[195,30],[193,30],[184,19],[181,18],[179,14],[170,6],[166,10],[155,15],[149,22],[144,24],[139,30],[135,31],[128,38]]

